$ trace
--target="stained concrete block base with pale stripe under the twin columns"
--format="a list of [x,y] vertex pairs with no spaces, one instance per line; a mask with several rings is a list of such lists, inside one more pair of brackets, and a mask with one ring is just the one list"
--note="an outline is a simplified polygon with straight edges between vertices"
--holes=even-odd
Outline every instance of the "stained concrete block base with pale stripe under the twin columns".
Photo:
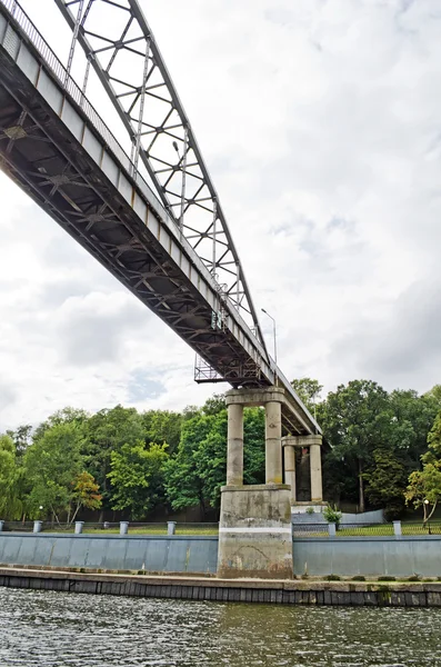
[[218,577],[293,578],[290,492],[284,484],[222,487]]

